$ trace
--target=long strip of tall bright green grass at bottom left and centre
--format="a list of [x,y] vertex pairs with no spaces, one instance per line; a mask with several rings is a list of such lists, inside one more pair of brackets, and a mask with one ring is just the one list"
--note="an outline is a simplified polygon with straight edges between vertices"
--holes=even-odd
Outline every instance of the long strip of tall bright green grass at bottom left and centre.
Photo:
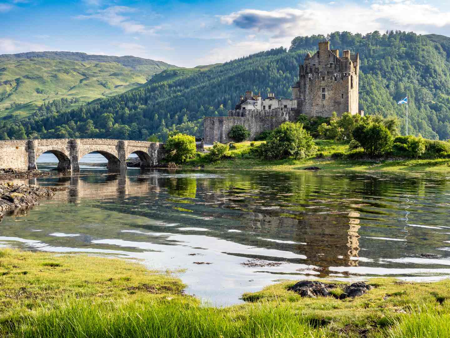
[[218,309],[177,300],[102,303],[76,301],[38,315],[27,315],[12,328],[19,337],[40,338],[293,338],[334,337],[312,327],[289,305],[255,304],[244,311]]

